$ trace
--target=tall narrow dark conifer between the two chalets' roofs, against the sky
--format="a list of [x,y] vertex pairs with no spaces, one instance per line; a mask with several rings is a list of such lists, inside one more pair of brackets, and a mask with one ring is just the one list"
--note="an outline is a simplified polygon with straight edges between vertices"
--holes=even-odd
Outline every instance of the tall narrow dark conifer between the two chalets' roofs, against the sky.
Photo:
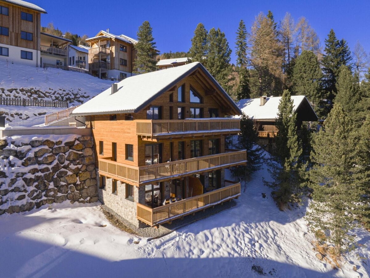
[[236,32],[236,72],[238,73],[237,98],[249,99],[249,71],[247,69],[247,31],[243,20],[240,20],[238,31]]

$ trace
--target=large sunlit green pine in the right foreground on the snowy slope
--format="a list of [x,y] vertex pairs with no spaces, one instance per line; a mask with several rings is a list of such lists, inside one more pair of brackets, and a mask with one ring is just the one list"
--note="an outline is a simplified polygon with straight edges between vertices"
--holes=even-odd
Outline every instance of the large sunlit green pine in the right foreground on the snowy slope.
[[364,191],[358,182],[362,178],[358,140],[352,131],[351,118],[336,103],[324,128],[313,137],[309,179],[314,192],[312,211],[307,216],[312,229],[325,233],[337,254],[353,242],[350,230],[356,226],[356,214],[363,211],[363,203],[359,202]]

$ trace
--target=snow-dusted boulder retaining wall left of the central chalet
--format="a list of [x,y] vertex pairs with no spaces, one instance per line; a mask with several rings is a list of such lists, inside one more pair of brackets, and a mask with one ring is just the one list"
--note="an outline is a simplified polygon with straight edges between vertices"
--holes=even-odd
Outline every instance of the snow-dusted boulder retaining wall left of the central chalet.
[[42,205],[98,201],[91,136],[0,139],[0,215]]

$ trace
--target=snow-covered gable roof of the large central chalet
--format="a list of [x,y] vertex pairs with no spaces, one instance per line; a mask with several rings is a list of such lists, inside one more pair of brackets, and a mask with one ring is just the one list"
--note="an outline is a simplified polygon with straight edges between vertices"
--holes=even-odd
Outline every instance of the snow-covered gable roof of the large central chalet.
[[118,83],[116,93],[111,94],[111,88],[109,88],[74,109],[72,115],[137,113],[196,69],[202,70],[211,82],[218,87],[226,99],[229,100],[229,105],[241,114],[235,102],[233,102],[231,97],[222,89],[205,67],[199,62],[195,62],[181,67],[173,67],[171,69],[128,77]]

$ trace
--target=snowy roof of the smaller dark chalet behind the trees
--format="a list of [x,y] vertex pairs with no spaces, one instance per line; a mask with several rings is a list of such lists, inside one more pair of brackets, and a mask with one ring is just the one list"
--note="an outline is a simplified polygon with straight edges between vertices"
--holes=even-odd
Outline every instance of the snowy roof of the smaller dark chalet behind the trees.
[[[306,104],[309,107],[307,121],[316,121],[317,115],[305,96],[291,96],[293,100],[293,110]],[[241,99],[236,104],[245,115],[255,120],[275,120],[279,112],[278,106],[281,96],[267,97],[265,105],[260,105],[260,98]],[[307,105],[308,104],[308,105]]]

